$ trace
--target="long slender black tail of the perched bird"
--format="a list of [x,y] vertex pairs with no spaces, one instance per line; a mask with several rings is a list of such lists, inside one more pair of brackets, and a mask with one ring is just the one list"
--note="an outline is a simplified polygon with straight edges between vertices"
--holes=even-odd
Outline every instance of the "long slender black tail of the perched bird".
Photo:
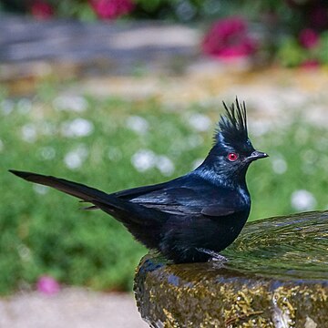
[[87,187],[81,183],[15,169],[9,169],[9,171],[19,178],[55,188],[80,200],[90,202],[100,210],[106,211],[125,224],[134,222],[147,226],[160,220],[160,214],[157,210],[145,209],[137,203],[121,200],[118,197],[95,188]]

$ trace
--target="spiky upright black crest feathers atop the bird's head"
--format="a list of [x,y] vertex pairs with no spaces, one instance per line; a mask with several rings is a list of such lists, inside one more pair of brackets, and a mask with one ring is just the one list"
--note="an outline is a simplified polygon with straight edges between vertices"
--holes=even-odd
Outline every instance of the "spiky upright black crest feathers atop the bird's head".
[[215,142],[218,142],[221,136],[225,143],[232,146],[236,143],[246,143],[248,133],[245,102],[241,104],[236,97],[236,102],[232,103],[230,108],[225,102],[223,102],[223,107],[226,113],[220,116],[218,128],[214,135]]

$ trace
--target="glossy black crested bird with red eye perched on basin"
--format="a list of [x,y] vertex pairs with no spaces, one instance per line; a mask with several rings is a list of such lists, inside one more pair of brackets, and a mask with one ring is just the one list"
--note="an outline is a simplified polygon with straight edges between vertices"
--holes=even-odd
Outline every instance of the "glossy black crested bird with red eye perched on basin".
[[251,209],[246,171],[268,155],[247,133],[245,103],[225,103],[207,158],[190,173],[156,185],[108,194],[83,184],[31,172],[10,172],[53,187],[104,210],[149,249],[175,263],[208,261],[234,241]]

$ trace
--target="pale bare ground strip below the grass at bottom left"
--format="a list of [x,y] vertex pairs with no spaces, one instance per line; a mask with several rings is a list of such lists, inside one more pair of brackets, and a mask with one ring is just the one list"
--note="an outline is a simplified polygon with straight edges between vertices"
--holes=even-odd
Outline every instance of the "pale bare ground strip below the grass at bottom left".
[[56,295],[18,293],[0,300],[1,328],[146,328],[129,293],[67,288]]

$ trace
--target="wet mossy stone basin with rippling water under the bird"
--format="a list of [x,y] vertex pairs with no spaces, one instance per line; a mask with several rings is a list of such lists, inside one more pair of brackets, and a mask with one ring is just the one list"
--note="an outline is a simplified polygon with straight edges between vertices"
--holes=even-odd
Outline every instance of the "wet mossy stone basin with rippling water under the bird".
[[144,257],[141,316],[153,327],[327,327],[328,211],[259,220],[221,254],[169,264]]

